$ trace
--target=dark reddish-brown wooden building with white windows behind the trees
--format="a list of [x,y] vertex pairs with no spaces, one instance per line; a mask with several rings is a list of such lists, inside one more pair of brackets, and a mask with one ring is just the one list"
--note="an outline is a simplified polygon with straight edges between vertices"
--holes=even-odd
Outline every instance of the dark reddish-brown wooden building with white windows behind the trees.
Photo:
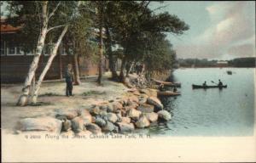
[[[17,31],[20,27],[8,25],[1,19],[1,82],[24,82],[29,66],[32,63],[33,53],[24,53],[20,43],[15,41]],[[36,78],[42,72],[49,58],[49,50],[45,46],[36,71]],[[57,56],[52,62],[45,76],[45,80],[61,79],[68,64],[73,65],[73,55],[67,54],[62,44],[58,50]],[[98,66],[90,59],[79,57],[80,76],[97,75]],[[104,70],[108,70],[108,59],[104,60]]]

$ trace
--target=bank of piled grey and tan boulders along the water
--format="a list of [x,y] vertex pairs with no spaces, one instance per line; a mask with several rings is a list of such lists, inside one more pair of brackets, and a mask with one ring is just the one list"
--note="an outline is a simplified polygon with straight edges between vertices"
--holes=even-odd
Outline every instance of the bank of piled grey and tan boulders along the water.
[[61,135],[125,133],[137,128],[170,121],[171,114],[163,110],[156,89],[131,88],[121,98],[111,99],[88,108],[55,110],[54,116],[24,118],[18,121],[15,133],[51,132]]

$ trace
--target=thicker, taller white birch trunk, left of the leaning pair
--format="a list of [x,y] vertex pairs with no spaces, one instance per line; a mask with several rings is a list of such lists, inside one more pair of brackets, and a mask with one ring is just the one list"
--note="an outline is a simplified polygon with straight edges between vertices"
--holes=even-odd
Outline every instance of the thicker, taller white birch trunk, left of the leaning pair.
[[18,103],[17,103],[17,105],[20,105],[20,106],[24,106],[24,105],[27,104],[32,79],[35,76],[35,72],[38,68],[38,62],[39,62],[41,53],[42,53],[43,48],[44,48],[44,41],[45,41],[47,28],[48,28],[47,5],[48,5],[48,2],[43,3],[43,12],[42,12],[42,14],[43,14],[43,27],[42,27],[41,33],[38,37],[38,45],[37,45],[37,48],[36,48],[36,53],[34,54],[32,64],[29,67],[29,70],[28,70],[28,73],[27,73],[27,76],[26,76],[26,80],[24,82],[24,87],[22,88],[22,94],[20,95],[20,98],[19,98]]

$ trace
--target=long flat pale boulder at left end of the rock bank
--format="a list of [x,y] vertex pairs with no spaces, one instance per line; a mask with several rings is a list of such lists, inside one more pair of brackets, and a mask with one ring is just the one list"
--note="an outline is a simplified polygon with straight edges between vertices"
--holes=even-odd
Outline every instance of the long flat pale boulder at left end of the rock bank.
[[53,117],[25,118],[18,122],[17,130],[22,132],[41,131],[61,133],[62,121]]

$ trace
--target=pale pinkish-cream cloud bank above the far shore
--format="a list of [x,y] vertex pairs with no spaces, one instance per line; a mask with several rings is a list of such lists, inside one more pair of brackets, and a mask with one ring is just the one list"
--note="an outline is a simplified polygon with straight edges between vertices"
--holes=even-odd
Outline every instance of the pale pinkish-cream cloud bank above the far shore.
[[177,56],[218,59],[227,55],[230,58],[255,55],[255,14],[247,14],[250,5],[218,2],[208,6],[211,25],[191,45],[177,46]]

